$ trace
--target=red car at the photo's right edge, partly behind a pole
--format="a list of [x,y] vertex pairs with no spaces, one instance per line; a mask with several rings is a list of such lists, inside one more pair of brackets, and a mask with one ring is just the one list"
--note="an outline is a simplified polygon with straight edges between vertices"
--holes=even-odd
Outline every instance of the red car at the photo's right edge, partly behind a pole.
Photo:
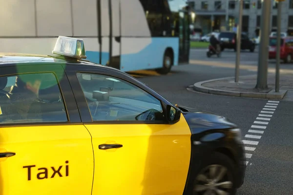
[[[276,59],[276,37],[270,37],[269,41],[269,59]],[[290,63],[293,57],[293,37],[281,38],[280,59],[285,63]]]

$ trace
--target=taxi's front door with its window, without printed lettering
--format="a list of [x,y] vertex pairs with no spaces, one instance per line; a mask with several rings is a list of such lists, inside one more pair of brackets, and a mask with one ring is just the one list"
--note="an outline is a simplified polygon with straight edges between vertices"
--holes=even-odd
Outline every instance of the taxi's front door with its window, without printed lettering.
[[[102,74],[98,74],[99,69]],[[84,126],[92,137],[95,156],[92,195],[182,195],[191,150],[185,118],[181,116],[180,121],[172,125],[131,118],[148,100],[161,110],[160,100],[124,80],[126,78],[111,75],[109,69],[103,72],[103,69],[80,66],[81,72],[77,72],[74,67],[71,70],[67,67]],[[90,70],[92,72],[88,72]],[[113,88],[109,99],[95,100],[98,98],[95,93],[103,91],[103,87]],[[119,98],[135,93],[146,101]],[[119,114],[125,111],[128,114]]]

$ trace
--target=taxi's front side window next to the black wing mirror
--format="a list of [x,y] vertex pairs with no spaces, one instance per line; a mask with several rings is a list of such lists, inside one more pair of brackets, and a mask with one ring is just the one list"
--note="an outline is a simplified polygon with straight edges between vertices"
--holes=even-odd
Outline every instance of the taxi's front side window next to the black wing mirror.
[[77,73],[92,119],[164,121],[160,100],[118,78]]

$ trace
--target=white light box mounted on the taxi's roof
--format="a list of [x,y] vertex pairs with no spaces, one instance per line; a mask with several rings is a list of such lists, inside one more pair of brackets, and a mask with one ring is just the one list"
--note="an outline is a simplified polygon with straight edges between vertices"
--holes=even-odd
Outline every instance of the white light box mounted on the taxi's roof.
[[53,54],[76,59],[86,59],[84,40],[59,36],[55,44]]

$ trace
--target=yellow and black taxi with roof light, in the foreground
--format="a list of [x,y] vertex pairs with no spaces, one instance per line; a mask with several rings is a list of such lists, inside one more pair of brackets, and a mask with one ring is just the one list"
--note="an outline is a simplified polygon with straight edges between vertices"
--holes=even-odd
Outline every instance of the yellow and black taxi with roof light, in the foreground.
[[173,105],[128,74],[53,54],[0,54],[0,195],[234,195],[238,127]]

